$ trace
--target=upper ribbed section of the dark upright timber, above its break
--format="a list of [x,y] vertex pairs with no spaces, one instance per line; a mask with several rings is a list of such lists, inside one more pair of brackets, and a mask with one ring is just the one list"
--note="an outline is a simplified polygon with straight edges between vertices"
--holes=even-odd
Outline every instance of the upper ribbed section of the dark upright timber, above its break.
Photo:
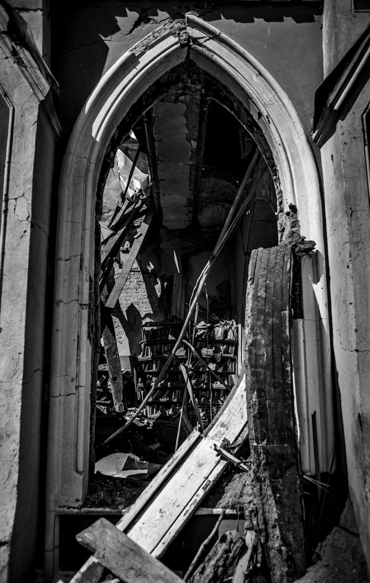
[[257,443],[285,443],[287,434],[292,435],[290,266],[288,246],[252,251],[245,315],[246,375],[249,429]]

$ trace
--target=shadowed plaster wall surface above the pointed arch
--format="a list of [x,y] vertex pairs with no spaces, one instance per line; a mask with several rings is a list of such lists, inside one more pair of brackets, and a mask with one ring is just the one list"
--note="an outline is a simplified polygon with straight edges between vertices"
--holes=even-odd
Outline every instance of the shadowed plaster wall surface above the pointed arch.
[[72,129],[101,75],[125,51],[189,10],[230,36],[266,67],[287,92],[309,131],[313,94],[322,81],[321,16],[316,5],[264,7],[240,2],[199,9],[183,2],[153,5],[143,1],[138,5],[114,0],[76,3],[68,11],[57,3],[52,10],[52,72],[61,86],[66,128]]

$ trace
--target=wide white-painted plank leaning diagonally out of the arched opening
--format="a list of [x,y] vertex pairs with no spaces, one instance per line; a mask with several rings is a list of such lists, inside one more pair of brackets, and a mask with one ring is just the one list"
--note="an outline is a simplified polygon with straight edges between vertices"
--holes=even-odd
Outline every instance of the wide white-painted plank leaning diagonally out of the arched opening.
[[[220,459],[214,445],[225,439],[230,444],[241,436],[247,424],[245,378],[241,377],[235,393],[206,437],[199,440],[191,454],[168,476],[150,499],[146,490],[133,508],[122,517],[118,528],[148,552],[160,556],[191,517],[207,492],[221,476],[227,462]],[[135,506],[134,504],[134,506]],[[138,515],[138,507],[142,512]],[[135,514],[135,520],[131,518]],[[131,524],[125,528],[125,524]]]

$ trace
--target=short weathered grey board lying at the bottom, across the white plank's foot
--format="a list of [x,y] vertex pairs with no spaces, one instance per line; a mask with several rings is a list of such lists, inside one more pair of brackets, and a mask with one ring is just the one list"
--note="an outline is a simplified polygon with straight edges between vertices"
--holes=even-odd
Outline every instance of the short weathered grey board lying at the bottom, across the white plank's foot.
[[180,583],[181,579],[131,538],[100,518],[76,536],[95,559],[125,583]]

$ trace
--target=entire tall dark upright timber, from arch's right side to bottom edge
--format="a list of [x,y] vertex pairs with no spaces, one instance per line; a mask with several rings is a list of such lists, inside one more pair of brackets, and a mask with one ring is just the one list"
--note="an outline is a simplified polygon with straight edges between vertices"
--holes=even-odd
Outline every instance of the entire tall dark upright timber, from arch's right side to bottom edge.
[[[254,250],[253,255],[261,256],[261,266],[269,255],[267,278],[265,272],[258,269],[258,257],[255,258],[255,268],[248,279],[248,298],[252,301],[247,306],[245,318],[248,325],[246,353],[250,355],[246,359],[246,381],[249,378],[252,380],[248,394],[248,410],[251,411],[248,422],[255,441],[251,444],[252,468],[258,484],[258,488],[254,488],[258,492],[256,511],[265,517],[266,547],[273,566],[272,579],[277,580],[284,573],[283,579],[286,581],[286,563],[280,553],[281,547],[286,547],[292,557],[289,577],[297,578],[304,564],[290,358],[291,248],[279,245],[275,250]],[[256,301],[253,298],[257,298]],[[262,361],[265,373],[256,374],[253,367],[262,366]],[[270,371],[273,371],[272,377]],[[269,433],[265,440],[260,427],[265,424],[266,404],[268,406],[269,402],[275,406],[276,429],[273,426],[273,409],[267,409]]]

